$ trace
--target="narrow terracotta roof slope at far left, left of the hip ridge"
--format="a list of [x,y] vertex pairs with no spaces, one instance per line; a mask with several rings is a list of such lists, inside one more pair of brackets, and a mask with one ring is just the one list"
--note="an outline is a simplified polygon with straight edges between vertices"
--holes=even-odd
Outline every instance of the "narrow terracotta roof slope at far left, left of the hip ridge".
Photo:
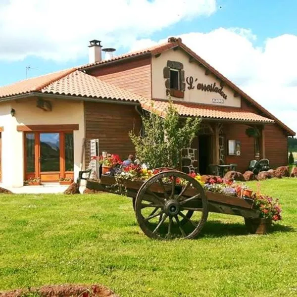
[[22,80],[8,86],[0,87],[0,98],[27,94],[31,92],[39,92],[43,87],[64,77],[65,75],[75,70],[75,68],[66,69],[58,72],[53,72],[47,75]]

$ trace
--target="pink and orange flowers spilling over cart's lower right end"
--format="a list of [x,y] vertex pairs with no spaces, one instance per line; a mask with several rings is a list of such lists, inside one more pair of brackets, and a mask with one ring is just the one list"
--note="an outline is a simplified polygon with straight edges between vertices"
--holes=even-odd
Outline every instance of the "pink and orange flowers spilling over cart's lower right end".
[[254,207],[260,210],[260,215],[265,219],[272,219],[278,221],[282,219],[282,208],[278,199],[273,199],[269,196],[256,194],[252,195],[254,201]]

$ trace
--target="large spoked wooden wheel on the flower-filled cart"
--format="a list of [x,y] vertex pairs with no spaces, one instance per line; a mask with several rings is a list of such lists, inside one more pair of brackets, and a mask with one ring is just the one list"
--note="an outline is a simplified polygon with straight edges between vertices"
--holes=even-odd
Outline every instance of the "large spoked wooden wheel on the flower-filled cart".
[[[177,183],[179,179],[185,186]],[[148,179],[139,189],[134,206],[139,226],[155,239],[192,239],[208,216],[203,188],[180,171],[160,172]]]

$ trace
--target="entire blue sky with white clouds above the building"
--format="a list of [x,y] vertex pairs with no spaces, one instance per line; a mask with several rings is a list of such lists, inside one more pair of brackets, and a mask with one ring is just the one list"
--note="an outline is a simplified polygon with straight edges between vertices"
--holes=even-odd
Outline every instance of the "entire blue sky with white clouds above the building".
[[[170,36],[297,132],[297,0],[0,0],[0,86]],[[104,57],[103,57],[104,58]]]

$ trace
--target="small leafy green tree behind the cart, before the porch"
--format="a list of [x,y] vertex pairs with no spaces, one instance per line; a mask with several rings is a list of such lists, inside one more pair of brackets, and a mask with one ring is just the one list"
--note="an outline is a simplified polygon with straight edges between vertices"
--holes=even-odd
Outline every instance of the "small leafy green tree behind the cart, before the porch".
[[150,168],[176,168],[180,162],[181,149],[189,147],[200,124],[198,118],[181,120],[172,101],[164,118],[154,112],[142,116],[143,135],[129,133],[135,146],[136,156]]

